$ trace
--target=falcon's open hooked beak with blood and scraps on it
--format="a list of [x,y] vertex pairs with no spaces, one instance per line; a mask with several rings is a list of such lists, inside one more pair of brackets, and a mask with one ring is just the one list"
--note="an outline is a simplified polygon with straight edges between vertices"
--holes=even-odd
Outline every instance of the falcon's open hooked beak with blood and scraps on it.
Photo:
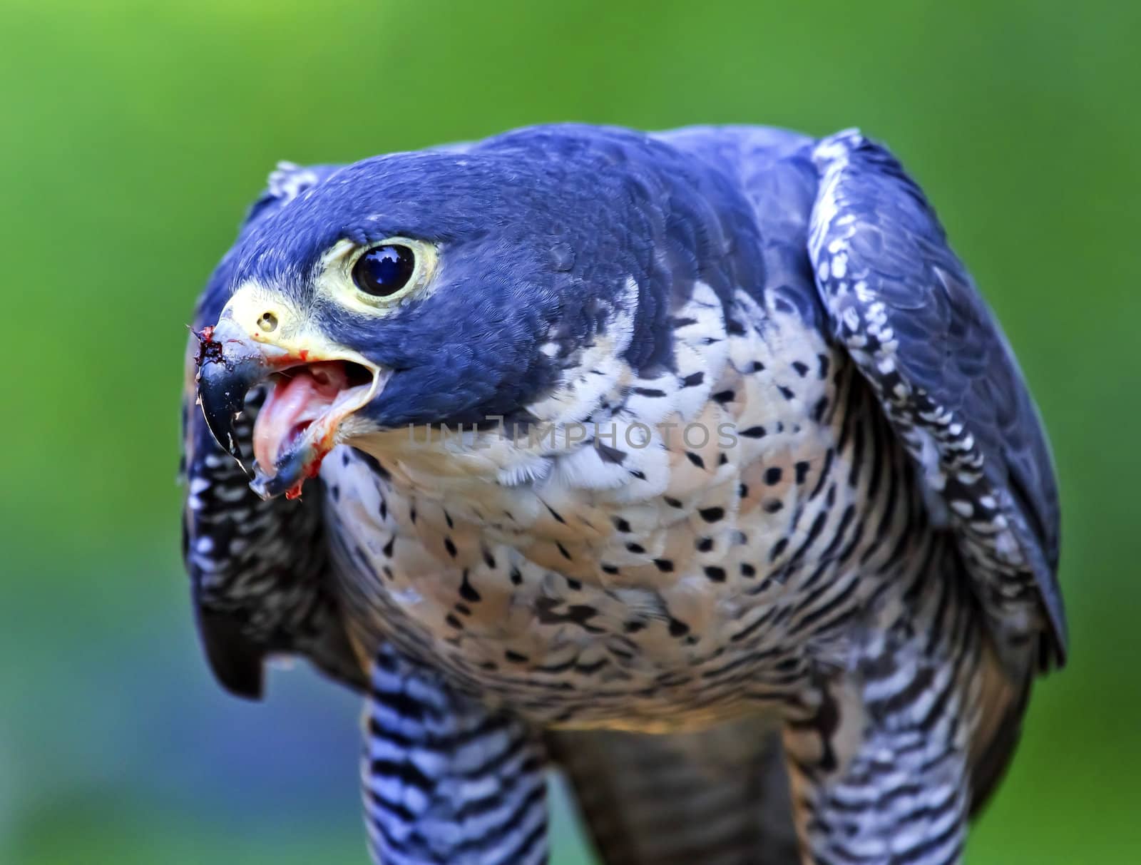
[[[248,331],[226,312],[199,340],[202,415],[264,499],[300,495],[325,454],[348,437],[342,421],[367,404],[389,375],[362,355],[315,334],[274,340]],[[272,387],[254,421],[251,471],[234,422],[250,389],[267,380]]]

